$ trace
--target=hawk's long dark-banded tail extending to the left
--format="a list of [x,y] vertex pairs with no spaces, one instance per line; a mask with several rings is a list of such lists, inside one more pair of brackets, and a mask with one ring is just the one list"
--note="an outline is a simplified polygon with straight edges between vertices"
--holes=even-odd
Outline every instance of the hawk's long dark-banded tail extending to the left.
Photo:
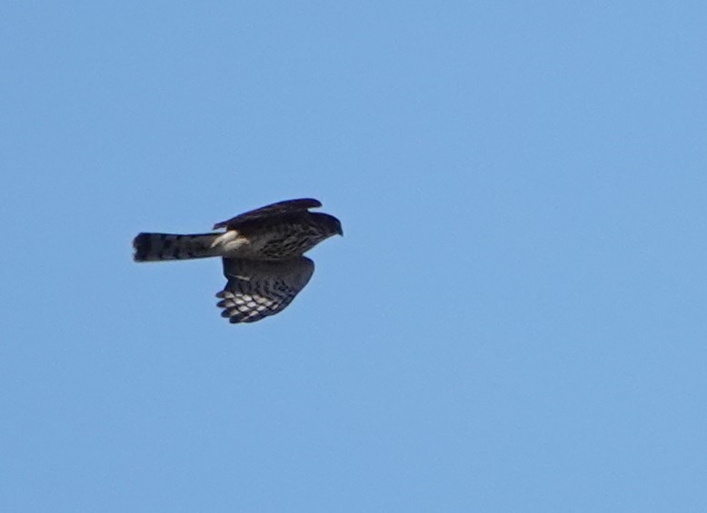
[[214,241],[223,233],[175,235],[173,233],[139,233],[133,241],[134,261],[185,260],[218,256]]

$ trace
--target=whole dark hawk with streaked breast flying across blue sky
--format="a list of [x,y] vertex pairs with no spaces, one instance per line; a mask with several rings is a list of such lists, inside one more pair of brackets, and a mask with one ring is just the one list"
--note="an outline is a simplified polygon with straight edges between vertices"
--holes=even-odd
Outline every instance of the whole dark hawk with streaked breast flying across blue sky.
[[222,257],[228,280],[216,294],[222,317],[254,322],[289,305],[314,273],[314,261],[303,256],[332,235],[344,235],[333,215],[309,212],[322,203],[288,200],[245,212],[214,224],[224,232],[176,235],[139,233],[134,261]]

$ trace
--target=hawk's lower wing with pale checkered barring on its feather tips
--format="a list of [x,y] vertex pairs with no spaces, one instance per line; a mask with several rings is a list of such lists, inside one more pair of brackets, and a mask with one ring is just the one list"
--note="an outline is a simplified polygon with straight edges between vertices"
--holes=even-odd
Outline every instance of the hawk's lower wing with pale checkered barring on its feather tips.
[[224,309],[221,316],[232,323],[254,322],[283,311],[313,272],[314,261],[306,257],[283,261],[224,258],[228,282],[216,294],[222,298],[217,305]]

